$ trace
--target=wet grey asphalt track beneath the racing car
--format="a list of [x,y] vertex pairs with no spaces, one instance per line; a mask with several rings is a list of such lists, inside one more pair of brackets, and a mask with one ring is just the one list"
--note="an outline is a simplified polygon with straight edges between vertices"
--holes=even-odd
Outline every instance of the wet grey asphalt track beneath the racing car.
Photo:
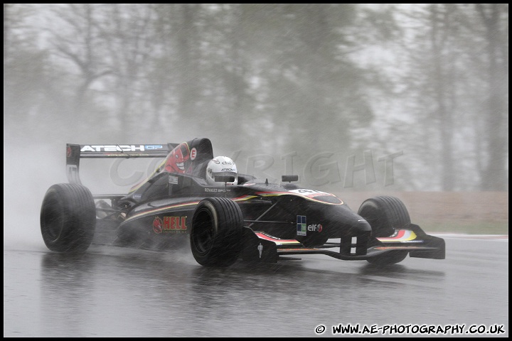
[[[508,236],[440,237],[447,259],[386,268],[309,255],[207,269],[187,247],[65,256],[4,240],[4,337],[347,336],[333,334],[340,324],[376,332],[359,336],[508,337]],[[400,333],[420,326],[448,332]]]

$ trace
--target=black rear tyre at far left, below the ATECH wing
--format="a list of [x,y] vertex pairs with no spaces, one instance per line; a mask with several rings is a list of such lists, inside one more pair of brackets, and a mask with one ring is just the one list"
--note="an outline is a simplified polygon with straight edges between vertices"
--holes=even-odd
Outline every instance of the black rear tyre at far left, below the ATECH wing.
[[46,191],[41,205],[41,234],[55,252],[83,252],[96,227],[96,208],[90,190],[77,183],[59,183]]

